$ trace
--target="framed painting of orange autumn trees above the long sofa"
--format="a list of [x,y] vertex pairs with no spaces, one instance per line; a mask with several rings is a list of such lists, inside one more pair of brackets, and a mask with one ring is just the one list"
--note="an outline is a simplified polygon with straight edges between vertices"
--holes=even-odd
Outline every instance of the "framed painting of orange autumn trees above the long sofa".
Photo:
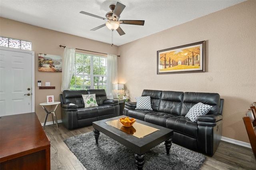
[[157,51],[157,74],[204,72],[204,41]]

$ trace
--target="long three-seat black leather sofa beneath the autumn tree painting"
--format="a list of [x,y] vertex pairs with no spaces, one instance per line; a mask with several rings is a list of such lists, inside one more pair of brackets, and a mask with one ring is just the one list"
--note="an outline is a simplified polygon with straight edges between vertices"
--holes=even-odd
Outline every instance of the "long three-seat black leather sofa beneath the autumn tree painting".
[[[126,102],[124,115],[174,130],[172,141],[188,149],[212,156],[222,137],[222,106],[218,93],[144,90],[150,96],[151,110],[136,110],[136,102]],[[197,122],[185,117],[196,103],[211,105]]]

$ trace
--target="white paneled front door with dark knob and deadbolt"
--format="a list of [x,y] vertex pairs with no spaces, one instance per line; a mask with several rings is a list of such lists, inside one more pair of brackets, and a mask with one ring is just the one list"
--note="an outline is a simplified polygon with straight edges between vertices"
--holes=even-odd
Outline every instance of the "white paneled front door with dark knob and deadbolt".
[[0,116],[34,110],[34,51],[1,47]]

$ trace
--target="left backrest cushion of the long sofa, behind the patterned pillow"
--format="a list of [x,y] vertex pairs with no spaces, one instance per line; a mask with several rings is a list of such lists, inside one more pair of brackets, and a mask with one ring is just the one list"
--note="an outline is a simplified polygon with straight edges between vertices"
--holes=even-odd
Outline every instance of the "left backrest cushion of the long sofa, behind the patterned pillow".
[[142,96],[150,96],[151,107],[153,110],[158,111],[160,105],[160,99],[162,96],[162,91],[160,90],[143,90]]

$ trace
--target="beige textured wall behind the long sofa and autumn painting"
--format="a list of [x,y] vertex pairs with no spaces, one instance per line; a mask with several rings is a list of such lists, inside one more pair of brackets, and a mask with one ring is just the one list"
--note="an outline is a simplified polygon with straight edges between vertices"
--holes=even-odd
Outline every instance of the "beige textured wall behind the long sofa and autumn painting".
[[[256,101],[255,9],[249,0],[119,46],[118,83],[125,83],[131,101],[143,89],[219,93],[222,136],[249,142],[242,116]],[[158,50],[204,40],[204,73],[157,75]]]

